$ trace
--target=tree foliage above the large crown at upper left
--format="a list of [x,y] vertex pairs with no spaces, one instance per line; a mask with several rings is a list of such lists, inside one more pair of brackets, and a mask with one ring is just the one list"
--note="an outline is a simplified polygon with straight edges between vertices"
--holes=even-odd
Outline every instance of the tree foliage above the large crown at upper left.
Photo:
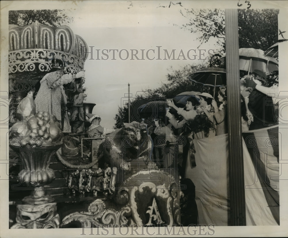
[[73,22],[73,17],[67,15],[67,10],[59,9],[9,11],[9,24],[26,26],[35,21],[48,26],[61,26]]

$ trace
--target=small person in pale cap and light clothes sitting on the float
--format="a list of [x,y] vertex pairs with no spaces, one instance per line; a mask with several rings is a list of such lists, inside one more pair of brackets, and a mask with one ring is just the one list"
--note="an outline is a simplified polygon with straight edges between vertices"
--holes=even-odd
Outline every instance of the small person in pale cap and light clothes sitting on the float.
[[103,138],[107,134],[112,133],[115,129],[108,129],[100,125],[101,117],[99,115],[94,115],[91,113],[86,113],[89,117],[89,122],[91,122],[90,127],[88,128],[88,137],[90,138]]

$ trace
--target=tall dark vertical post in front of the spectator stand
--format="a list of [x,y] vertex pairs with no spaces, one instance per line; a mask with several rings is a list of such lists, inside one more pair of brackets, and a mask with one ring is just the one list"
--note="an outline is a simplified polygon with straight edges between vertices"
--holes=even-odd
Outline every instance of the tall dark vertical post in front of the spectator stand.
[[232,226],[245,226],[245,189],[240,110],[238,10],[225,10],[226,76],[228,101],[230,218]]

